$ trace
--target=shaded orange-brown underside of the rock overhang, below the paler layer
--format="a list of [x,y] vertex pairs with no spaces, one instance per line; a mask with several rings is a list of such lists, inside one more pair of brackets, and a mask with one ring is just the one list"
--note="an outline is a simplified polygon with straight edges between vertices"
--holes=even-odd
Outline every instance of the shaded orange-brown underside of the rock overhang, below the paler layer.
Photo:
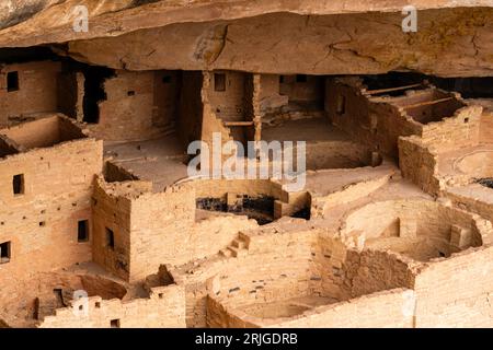
[[400,13],[275,13],[71,42],[68,54],[87,62],[130,70],[310,74],[419,70],[443,77],[491,75],[493,10],[422,11],[416,33],[403,33],[401,21]]

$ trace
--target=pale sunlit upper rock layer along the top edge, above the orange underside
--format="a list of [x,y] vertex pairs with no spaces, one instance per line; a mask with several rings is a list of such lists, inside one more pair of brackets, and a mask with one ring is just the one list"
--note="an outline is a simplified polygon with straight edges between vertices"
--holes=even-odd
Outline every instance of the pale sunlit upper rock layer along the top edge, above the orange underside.
[[[92,28],[70,28],[73,8],[87,5]],[[405,0],[7,0],[0,4],[0,47],[34,46],[74,39],[117,36],[142,28],[174,23],[236,20],[260,14],[288,12],[324,15],[357,12],[400,12]],[[491,0],[416,0],[417,10],[459,7],[491,7]]]

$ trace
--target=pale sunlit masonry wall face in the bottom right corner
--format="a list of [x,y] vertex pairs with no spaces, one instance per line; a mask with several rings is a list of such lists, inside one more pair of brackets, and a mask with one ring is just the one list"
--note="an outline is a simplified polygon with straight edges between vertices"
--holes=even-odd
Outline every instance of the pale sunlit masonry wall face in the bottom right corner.
[[416,327],[492,327],[493,247],[423,269],[415,281]]

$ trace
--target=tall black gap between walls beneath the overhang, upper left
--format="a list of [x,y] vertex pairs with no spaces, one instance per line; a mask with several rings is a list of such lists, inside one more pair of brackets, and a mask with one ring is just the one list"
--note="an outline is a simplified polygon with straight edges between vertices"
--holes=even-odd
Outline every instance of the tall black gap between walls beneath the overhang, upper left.
[[106,100],[104,91],[104,81],[114,77],[114,71],[105,67],[89,66],[83,69],[84,81],[84,97],[83,97],[83,121],[89,124],[98,124],[100,121],[100,106],[101,101]]

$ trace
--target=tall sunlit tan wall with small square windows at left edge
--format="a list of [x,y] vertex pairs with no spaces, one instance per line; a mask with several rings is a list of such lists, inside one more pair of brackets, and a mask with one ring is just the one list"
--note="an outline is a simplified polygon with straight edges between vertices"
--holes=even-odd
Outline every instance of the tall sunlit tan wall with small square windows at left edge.
[[[81,139],[0,159],[0,242],[11,242],[2,281],[91,260],[91,196],[102,153],[101,141]],[[14,195],[13,176],[21,174],[24,191]],[[88,220],[88,242],[78,242],[80,220]]]

